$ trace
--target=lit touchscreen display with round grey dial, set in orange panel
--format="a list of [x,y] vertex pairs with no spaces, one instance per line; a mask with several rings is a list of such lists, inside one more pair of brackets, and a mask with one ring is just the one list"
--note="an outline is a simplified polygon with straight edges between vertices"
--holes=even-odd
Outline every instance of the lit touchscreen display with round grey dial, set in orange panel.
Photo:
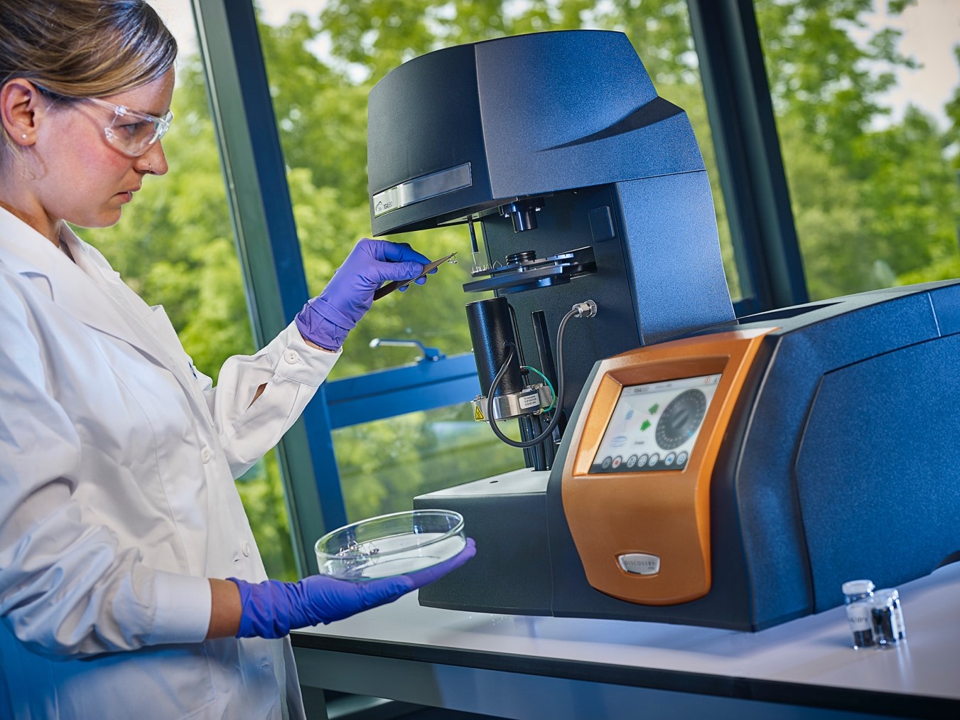
[[625,386],[589,471],[684,469],[718,382],[715,374]]

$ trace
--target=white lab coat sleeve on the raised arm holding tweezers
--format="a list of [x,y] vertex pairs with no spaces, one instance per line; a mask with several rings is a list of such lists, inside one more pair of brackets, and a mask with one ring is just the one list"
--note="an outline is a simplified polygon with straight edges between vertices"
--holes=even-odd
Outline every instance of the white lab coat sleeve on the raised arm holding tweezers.
[[[291,323],[256,354],[228,358],[216,388],[206,378],[207,405],[234,478],[250,469],[290,429],[339,357],[340,350],[308,346]],[[264,384],[263,394],[251,405],[257,388]]]

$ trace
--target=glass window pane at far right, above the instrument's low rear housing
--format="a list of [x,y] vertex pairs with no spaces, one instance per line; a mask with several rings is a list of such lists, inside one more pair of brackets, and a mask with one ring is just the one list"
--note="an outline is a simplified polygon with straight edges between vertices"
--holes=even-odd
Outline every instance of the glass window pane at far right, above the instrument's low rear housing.
[[811,300],[960,276],[960,5],[755,7]]

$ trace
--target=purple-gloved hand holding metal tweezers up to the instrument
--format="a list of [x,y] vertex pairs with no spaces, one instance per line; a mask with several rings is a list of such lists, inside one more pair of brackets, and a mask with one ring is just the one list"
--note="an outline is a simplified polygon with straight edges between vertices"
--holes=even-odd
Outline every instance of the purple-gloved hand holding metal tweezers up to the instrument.
[[[387,280],[409,280],[430,260],[406,243],[364,238],[344,260],[324,291],[297,314],[300,334],[321,348],[335,350],[373,304],[373,291]],[[423,284],[425,278],[418,283]]]

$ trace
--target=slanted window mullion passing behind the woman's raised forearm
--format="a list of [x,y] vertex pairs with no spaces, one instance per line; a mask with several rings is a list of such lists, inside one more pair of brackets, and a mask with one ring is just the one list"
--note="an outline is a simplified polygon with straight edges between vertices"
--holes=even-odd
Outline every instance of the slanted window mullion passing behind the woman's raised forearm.
[[[308,297],[266,68],[249,0],[192,0],[247,304],[258,347]],[[298,570],[346,523],[324,388],[277,445]]]

